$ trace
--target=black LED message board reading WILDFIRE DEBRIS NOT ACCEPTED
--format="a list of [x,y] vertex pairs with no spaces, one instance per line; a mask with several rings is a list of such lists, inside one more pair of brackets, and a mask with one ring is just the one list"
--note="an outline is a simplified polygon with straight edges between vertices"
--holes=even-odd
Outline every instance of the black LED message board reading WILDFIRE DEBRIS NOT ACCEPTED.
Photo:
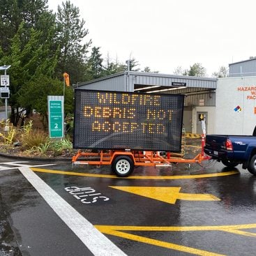
[[75,89],[75,149],[181,151],[184,96]]

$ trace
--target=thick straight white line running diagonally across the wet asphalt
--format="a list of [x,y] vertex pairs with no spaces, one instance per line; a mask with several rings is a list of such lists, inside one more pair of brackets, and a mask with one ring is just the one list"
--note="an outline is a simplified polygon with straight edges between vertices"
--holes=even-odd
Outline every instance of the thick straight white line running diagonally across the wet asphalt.
[[[97,256],[122,256],[126,255],[117,246],[104,236],[98,229],[93,227],[86,218],[70,206],[50,186],[40,179],[29,167],[20,167],[20,172],[36,188],[38,193],[45,199],[57,215],[77,235],[84,245]],[[72,218],[70,218],[72,216]]]

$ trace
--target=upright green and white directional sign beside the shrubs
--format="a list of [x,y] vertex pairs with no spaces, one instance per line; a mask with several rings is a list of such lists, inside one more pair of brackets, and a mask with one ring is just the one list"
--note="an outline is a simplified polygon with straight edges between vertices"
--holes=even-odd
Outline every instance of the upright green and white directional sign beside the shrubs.
[[63,96],[48,96],[50,138],[63,137]]

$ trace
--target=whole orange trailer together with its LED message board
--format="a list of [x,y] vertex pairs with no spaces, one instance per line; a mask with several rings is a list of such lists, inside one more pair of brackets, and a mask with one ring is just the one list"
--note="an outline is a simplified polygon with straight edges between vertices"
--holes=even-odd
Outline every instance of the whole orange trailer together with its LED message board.
[[171,155],[181,151],[183,99],[180,94],[75,89],[73,147],[79,151],[72,165],[111,165],[117,176],[128,176],[135,166],[201,163],[204,137],[195,158]]

